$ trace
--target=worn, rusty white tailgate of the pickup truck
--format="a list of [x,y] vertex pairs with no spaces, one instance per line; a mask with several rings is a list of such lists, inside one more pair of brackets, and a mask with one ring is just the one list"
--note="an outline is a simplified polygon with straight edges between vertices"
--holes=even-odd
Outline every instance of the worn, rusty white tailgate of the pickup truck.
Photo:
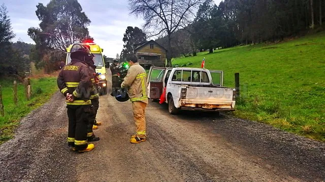
[[186,87],[186,99],[183,104],[202,104],[202,105],[224,105],[232,108],[233,89],[224,87]]

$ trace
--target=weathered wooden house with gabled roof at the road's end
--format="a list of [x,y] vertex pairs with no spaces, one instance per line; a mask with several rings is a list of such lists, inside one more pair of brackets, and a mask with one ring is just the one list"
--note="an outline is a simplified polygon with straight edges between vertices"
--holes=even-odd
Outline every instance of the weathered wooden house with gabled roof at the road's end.
[[138,58],[138,62],[145,69],[150,66],[165,67],[167,50],[154,40],[149,40],[136,45],[134,54]]

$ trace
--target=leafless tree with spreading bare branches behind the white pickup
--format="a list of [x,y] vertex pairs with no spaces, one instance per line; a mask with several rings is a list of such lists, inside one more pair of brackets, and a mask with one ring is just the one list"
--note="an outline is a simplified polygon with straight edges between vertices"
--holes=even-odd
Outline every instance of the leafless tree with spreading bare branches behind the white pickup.
[[172,65],[171,34],[195,17],[202,0],[128,0],[130,14],[142,16],[148,36],[167,35],[167,66]]

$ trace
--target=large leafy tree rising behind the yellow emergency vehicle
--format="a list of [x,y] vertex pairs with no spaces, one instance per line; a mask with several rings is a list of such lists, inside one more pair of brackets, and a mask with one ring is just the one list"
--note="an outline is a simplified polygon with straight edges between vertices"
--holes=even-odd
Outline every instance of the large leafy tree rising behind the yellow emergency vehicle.
[[36,15],[41,22],[40,28],[28,29],[32,39],[42,37],[47,47],[63,53],[76,41],[92,39],[87,28],[90,20],[77,0],[51,0],[46,6],[39,3],[36,7]]

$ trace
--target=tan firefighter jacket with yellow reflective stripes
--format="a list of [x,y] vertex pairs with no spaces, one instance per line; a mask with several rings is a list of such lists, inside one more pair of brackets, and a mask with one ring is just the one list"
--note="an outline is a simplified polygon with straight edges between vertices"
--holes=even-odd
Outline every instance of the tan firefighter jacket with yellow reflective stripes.
[[141,101],[148,104],[147,74],[139,63],[128,69],[121,87],[128,87],[127,93],[131,102]]

